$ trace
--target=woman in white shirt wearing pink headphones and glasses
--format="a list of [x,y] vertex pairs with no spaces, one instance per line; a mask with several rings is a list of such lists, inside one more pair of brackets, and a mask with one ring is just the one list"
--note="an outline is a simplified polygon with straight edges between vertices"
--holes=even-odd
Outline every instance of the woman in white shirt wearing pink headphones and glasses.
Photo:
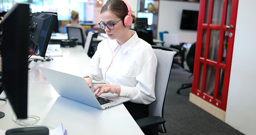
[[127,2],[109,0],[100,13],[98,24],[109,38],[98,44],[84,78],[89,87],[92,79],[105,80],[106,84],[94,88],[93,92],[98,90],[96,97],[107,92],[129,97],[131,102],[124,105],[133,118],[147,117],[148,105],[155,101],[155,53],[149,43],[138,38],[136,31],[129,30],[135,16]]

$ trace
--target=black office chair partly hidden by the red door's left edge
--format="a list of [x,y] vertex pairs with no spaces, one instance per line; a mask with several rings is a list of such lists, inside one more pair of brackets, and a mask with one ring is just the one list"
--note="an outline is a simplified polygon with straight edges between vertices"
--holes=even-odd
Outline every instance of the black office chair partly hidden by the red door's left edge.
[[[195,51],[196,51],[196,43],[193,43],[190,47],[190,49],[188,50],[187,52],[187,55],[186,55],[186,60],[185,60],[185,63],[184,63],[184,69],[186,71],[188,71],[189,73],[191,73],[190,77],[192,77],[193,75],[193,70],[194,70],[194,62],[195,62]],[[187,66],[185,66],[185,64]],[[186,68],[187,67],[187,68]],[[188,78],[190,78],[188,77]],[[188,79],[187,78],[187,79]],[[185,83],[185,84],[182,84],[181,85],[181,88],[179,88],[177,90],[177,94],[180,93],[181,89],[186,89],[186,88],[190,88],[192,87],[192,83]]]

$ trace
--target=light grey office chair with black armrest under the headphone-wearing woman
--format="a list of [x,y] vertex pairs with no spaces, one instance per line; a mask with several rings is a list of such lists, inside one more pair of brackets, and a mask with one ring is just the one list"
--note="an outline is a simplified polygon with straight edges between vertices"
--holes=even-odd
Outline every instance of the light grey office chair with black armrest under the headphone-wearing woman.
[[136,120],[141,129],[147,129],[152,134],[166,133],[164,126],[164,100],[172,68],[173,56],[178,50],[170,47],[152,46],[158,59],[156,68],[155,96],[156,100],[149,105],[149,117]]

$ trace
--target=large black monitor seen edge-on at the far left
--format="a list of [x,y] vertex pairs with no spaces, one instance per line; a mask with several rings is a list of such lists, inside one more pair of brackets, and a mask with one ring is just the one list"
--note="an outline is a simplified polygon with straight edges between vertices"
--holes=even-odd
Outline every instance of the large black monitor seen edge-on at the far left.
[[28,114],[29,4],[16,3],[2,20],[2,88],[16,114]]

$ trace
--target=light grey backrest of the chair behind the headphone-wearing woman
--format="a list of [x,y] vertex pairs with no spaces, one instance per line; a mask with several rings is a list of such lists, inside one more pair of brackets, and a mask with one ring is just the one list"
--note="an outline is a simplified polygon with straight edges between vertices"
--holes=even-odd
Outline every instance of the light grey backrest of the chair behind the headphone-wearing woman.
[[[172,68],[173,56],[178,50],[170,47],[152,46],[158,59],[156,68],[155,96],[156,100],[149,105],[149,116],[163,117],[165,93],[167,90],[170,69]],[[164,124],[159,125],[158,130],[165,133]]]

